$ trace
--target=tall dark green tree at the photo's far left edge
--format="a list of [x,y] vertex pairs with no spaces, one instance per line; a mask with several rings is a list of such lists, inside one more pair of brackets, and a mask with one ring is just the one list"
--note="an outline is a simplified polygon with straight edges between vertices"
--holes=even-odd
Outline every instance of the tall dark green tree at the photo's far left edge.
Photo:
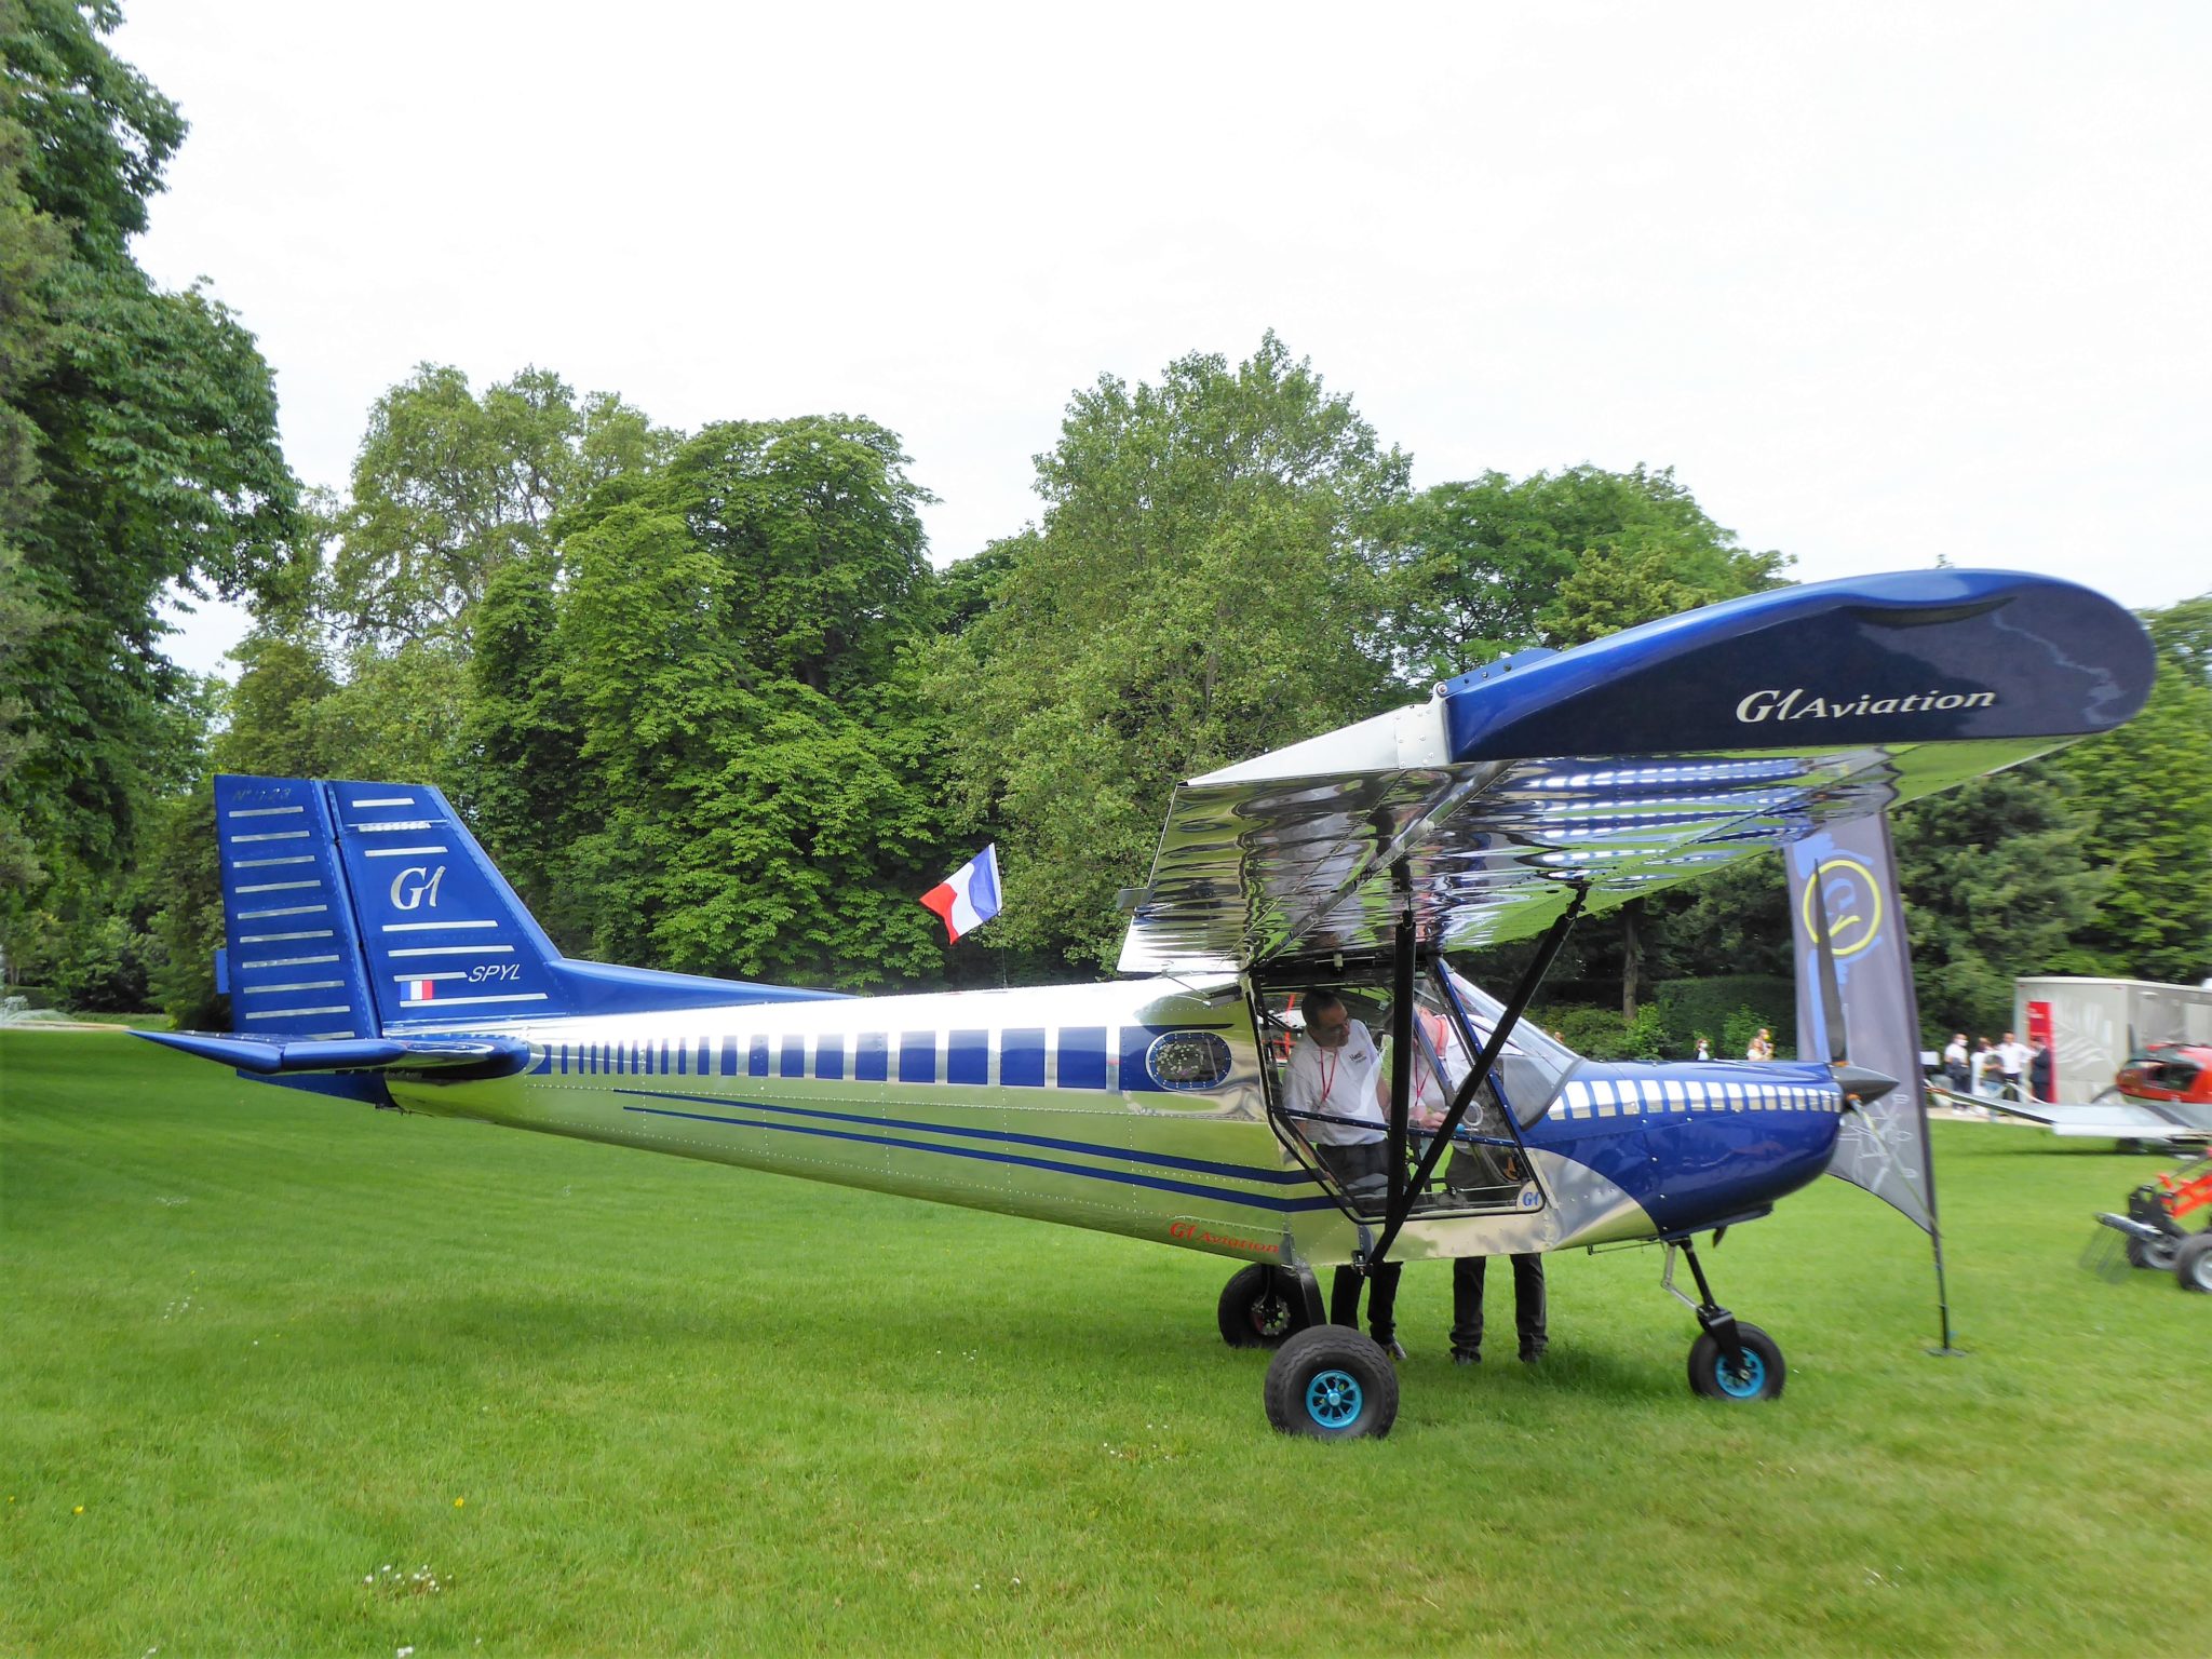
[[296,493],[252,336],[199,290],[155,290],[131,259],[184,122],[108,53],[117,20],[60,0],[0,15],[13,157],[0,540],[20,551],[7,604],[38,619],[0,653],[0,741],[15,752],[0,823],[44,865],[91,872],[135,847],[157,776],[146,757],[190,695],[159,648],[161,595],[254,586],[283,560]]

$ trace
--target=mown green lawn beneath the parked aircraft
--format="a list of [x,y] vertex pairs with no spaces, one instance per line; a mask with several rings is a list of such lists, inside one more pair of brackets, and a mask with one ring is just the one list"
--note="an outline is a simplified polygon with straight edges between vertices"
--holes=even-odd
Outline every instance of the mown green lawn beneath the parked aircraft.
[[0,1033],[0,1652],[2201,1652],[2212,1298],[2077,1265],[2154,1168],[1938,1126],[1969,1358],[1863,1192],[1730,1234],[1774,1405],[1657,1252],[1540,1367],[1413,1267],[1332,1447],[1230,1263]]

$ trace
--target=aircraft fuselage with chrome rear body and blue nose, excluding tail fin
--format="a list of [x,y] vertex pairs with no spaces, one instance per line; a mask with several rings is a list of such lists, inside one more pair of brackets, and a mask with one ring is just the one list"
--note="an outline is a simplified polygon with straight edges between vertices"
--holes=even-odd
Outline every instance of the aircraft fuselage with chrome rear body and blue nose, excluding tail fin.
[[[529,1042],[504,1077],[389,1075],[394,1104],[1267,1263],[1371,1243],[1270,1117],[1272,1068],[1234,982],[1177,980],[781,1002],[462,1026]],[[1164,1086],[1161,1037],[1223,1044],[1219,1079]],[[1420,1214],[1405,1259],[1679,1234],[1752,1214],[1834,1150],[1825,1066],[1575,1068],[1526,1152],[1517,1208]],[[1365,1239],[1363,1239],[1365,1234]]]

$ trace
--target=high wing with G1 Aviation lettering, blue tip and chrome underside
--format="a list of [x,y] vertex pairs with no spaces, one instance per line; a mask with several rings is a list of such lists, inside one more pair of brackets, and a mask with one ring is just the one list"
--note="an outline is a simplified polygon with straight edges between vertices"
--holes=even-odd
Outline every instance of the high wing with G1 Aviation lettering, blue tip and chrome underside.
[[1829,818],[2108,732],[2150,695],[2141,624],[2008,571],[1820,582],[1531,650],[1175,790],[1126,973],[1542,931]]

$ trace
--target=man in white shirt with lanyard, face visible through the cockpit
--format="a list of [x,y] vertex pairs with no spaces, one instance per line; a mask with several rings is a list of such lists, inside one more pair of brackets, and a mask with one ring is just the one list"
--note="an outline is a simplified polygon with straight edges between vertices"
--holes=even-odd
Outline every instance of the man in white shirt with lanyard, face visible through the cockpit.
[[[1352,1018],[1334,991],[1305,998],[1305,1031],[1290,1051],[1290,1075],[1283,1084],[1283,1106],[1290,1121],[1305,1135],[1323,1168],[1336,1177],[1345,1197],[1363,1210],[1380,1206],[1389,1192],[1389,1141],[1385,1137],[1378,1079],[1383,1055],[1367,1026]],[[1367,1298],[1367,1329],[1391,1358],[1405,1358],[1398,1347],[1398,1267],[1385,1261],[1376,1267]],[[1358,1267],[1338,1267],[1329,1285],[1329,1323],[1360,1323]]]

